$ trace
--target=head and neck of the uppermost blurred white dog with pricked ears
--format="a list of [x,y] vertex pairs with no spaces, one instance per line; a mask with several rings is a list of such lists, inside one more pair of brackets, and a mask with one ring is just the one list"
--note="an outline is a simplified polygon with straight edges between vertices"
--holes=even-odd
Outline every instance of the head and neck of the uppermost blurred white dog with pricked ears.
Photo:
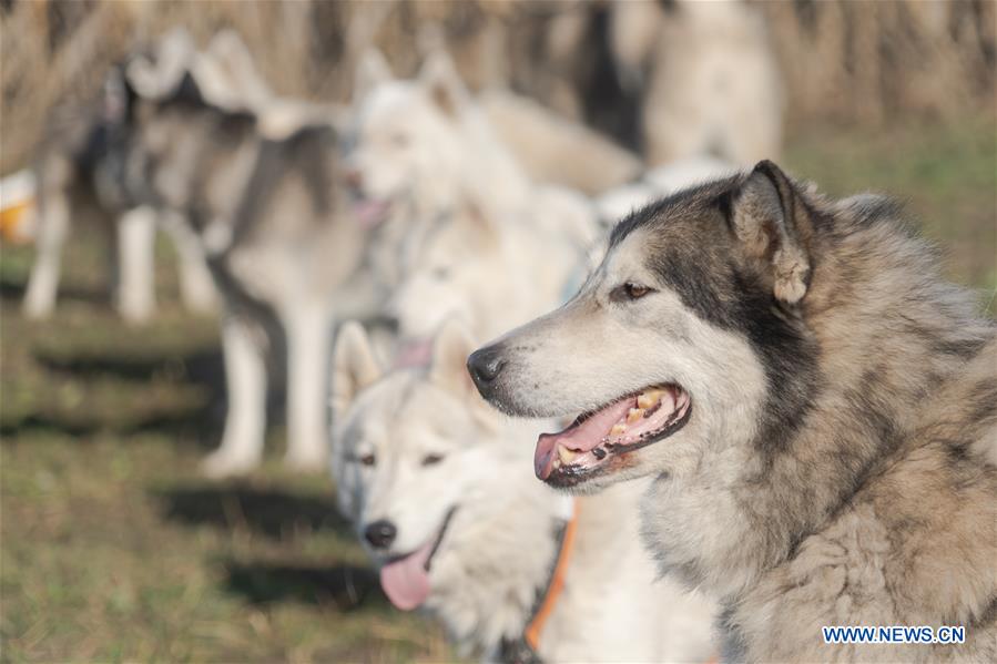
[[470,196],[519,211],[531,185],[441,52],[413,80],[395,79],[384,57],[362,58],[354,90],[348,164],[360,216],[426,219]]

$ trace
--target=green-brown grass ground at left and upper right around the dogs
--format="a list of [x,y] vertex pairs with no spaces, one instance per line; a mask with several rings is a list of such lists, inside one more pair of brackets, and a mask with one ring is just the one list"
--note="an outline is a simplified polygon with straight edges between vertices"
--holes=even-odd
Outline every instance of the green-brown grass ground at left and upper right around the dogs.
[[[983,307],[994,143],[985,122],[825,129],[783,161],[832,194],[908,198]],[[223,416],[216,324],[180,310],[163,249],[161,315],[124,326],[100,249],[72,246],[40,324],[18,307],[32,252],[0,256],[0,660],[451,660],[438,627],[381,595],[329,482],[282,469],[279,426],[253,477],[199,478]]]

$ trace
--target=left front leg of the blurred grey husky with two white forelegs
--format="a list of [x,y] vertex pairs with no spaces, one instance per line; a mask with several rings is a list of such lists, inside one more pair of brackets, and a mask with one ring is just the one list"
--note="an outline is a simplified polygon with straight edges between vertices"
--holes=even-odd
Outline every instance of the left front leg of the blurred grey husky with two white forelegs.
[[221,447],[203,462],[212,478],[253,470],[263,458],[266,428],[266,361],[263,339],[240,316],[226,316],[222,326],[228,411]]

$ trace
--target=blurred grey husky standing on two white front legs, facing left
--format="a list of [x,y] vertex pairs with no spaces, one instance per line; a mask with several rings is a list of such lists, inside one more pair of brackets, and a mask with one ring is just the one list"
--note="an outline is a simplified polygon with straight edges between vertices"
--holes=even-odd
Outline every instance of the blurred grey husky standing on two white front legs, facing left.
[[286,125],[275,137],[260,112],[220,108],[204,92],[185,71],[157,99],[140,100],[129,153],[145,175],[145,200],[183,214],[223,300],[228,412],[204,470],[224,476],[260,462],[267,360],[282,343],[287,461],[323,468],[334,316],[376,305],[372,279],[357,277],[373,235],[344,196],[330,121]]

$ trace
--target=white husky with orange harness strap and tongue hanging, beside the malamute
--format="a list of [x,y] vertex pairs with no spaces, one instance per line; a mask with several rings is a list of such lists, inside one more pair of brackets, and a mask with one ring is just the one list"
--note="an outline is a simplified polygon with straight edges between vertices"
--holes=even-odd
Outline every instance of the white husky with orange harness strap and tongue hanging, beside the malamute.
[[[339,505],[404,610],[439,617],[465,654],[550,662],[703,662],[712,605],[658,581],[640,546],[639,488],[576,504],[528,477],[535,423],[490,410],[444,326],[428,368],[381,377],[345,324],[333,376]],[[573,513],[573,517],[572,517]]]

